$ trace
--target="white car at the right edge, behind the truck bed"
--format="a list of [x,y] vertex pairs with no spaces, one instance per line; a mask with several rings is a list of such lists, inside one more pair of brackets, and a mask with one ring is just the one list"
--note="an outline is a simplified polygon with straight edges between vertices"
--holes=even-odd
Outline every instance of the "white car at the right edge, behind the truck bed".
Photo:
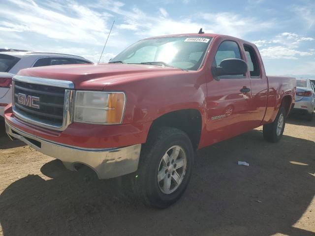
[[315,108],[315,87],[309,79],[296,79],[296,96],[292,113],[301,113],[308,120],[313,119]]

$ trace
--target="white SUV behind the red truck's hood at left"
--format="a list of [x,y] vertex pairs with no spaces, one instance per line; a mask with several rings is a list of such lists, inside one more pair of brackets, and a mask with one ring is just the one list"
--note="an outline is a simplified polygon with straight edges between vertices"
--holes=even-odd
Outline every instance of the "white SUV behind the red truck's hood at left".
[[81,63],[93,62],[80,56],[59,53],[0,52],[0,118],[3,117],[4,107],[12,102],[12,77],[19,70],[36,66]]

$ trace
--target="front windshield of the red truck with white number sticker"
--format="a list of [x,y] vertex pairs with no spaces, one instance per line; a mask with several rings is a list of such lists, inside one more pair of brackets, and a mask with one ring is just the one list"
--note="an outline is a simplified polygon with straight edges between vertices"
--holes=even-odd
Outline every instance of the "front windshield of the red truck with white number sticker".
[[141,40],[110,63],[156,64],[198,70],[212,37],[162,37]]

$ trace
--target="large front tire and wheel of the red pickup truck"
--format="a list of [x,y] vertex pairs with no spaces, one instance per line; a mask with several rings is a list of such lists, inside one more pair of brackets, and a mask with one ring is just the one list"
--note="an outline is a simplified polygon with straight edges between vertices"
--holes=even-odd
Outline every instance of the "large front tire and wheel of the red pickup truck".
[[[176,157],[176,155],[178,155],[176,161],[172,162],[172,156]],[[169,166],[165,160],[169,162]],[[138,196],[151,207],[165,208],[172,205],[186,190],[193,160],[193,148],[186,133],[170,127],[159,127],[152,131],[148,142],[141,149],[139,168],[135,178]],[[183,166],[179,167],[180,165]],[[158,174],[160,181],[158,181]],[[176,179],[181,180],[179,184],[175,181]]]

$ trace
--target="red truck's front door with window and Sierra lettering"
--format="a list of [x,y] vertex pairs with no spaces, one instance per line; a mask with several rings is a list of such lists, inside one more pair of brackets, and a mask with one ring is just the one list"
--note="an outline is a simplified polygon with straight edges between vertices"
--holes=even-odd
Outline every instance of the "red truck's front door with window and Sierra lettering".
[[[216,50],[212,68],[223,59],[245,59],[237,41],[222,41]],[[248,113],[251,84],[247,73],[215,77],[207,83],[208,144],[236,136],[249,130]]]

